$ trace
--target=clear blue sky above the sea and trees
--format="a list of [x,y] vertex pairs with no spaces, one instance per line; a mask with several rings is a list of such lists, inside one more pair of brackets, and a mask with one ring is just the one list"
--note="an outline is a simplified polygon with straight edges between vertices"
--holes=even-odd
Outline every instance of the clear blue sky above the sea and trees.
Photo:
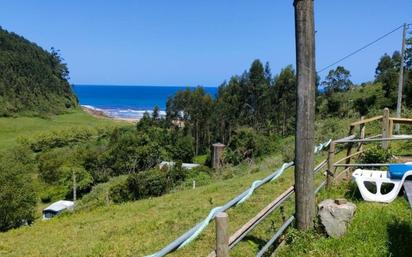
[[[0,26],[55,47],[73,84],[218,86],[254,59],[276,74],[295,66],[292,0],[1,0]],[[402,23],[411,0],[315,0],[318,70]],[[340,65],[374,78],[396,31]],[[320,74],[322,77],[327,72]]]

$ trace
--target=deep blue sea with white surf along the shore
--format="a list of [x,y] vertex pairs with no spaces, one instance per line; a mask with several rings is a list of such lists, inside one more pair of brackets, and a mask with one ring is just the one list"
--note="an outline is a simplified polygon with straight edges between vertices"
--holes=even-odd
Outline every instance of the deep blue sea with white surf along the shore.
[[[74,92],[84,107],[99,110],[107,116],[120,119],[140,119],[145,112],[151,113],[155,106],[160,115],[166,115],[166,101],[179,90],[194,90],[184,86],[146,85],[73,85]],[[212,97],[217,87],[204,87]]]

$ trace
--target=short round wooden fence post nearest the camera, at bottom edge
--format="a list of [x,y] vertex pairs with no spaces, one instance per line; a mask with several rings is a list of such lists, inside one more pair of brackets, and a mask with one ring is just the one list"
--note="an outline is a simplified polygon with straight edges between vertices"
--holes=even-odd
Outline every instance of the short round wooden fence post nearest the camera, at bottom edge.
[[229,216],[225,212],[216,215],[216,257],[229,257]]

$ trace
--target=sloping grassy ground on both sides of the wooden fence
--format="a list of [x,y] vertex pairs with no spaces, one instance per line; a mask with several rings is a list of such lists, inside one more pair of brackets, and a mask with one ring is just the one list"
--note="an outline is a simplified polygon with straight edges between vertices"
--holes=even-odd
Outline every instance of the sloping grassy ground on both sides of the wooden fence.
[[[0,255],[145,256],[177,238],[204,218],[211,208],[227,202],[253,180],[268,175],[281,162],[278,157],[270,156],[256,165],[237,167],[234,178],[194,190],[80,210],[48,222],[39,220],[31,227],[0,233]],[[322,177],[317,177],[317,184]],[[281,179],[256,190],[248,201],[229,210],[230,233],[288,188],[292,181],[293,169],[290,169]],[[327,197],[346,196],[357,204],[358,212],[347,236],[338,240],[291,230],[288,241],[293,240],[294,244],[281,249],[280,256],[384,256],[384,253],[386,256],[394,251],[394,247],[404,253],[407,246],[400,242],[406,241],[397,240],[399,235],[396,233],[408,235],[405,229],[412,224],[406,200],[399,198],[389,205],[367,203],[353,190],[343,184],[330,193],[322,192],[317,199],[319,202]],[[275,211],[267,217],[231,251],[231,256],[254,256],[279,228],[282,216],[292,213],[293,201],[288,201],[284,210],[284,213]],[[372,225],[373,231],[370,230]],[[387,227],[393,229],[387,231]],[[213,249],[214,237],[212,223],[194,242],[170,256],[206,256]]]

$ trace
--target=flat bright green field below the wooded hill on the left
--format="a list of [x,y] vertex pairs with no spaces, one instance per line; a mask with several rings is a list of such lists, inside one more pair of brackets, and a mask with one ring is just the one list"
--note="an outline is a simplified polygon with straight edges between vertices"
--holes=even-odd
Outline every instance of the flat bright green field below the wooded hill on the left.
[[128,123],[111,119],[95,118],[82,110],[49,118],[17,117],[0,118],[0,149],[15,146],[19,137],[34,133],[69,127],[122,126]]

